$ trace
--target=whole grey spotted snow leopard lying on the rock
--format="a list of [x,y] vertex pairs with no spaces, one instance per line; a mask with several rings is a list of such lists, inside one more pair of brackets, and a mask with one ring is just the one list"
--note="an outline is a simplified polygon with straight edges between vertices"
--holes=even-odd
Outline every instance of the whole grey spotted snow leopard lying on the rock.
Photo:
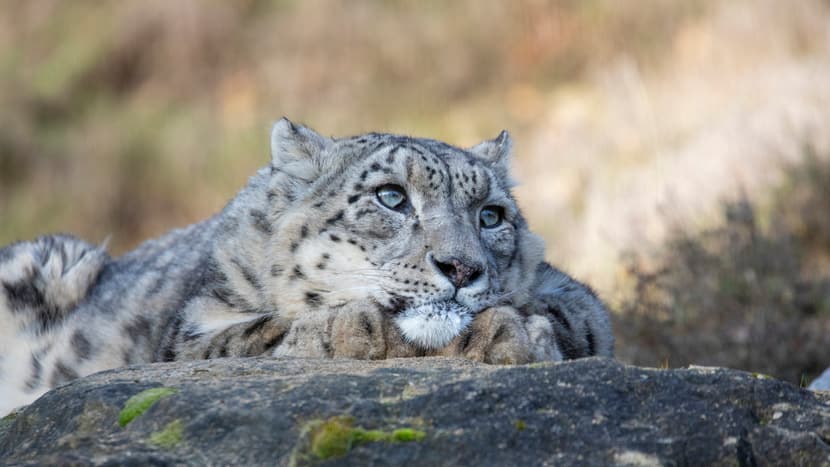
[[270,163],[203,222],[117,258],[69,235],[0,249],[0,413],[139,363],[612,357],[605,305],[528,230],[511,146],[283,118]]

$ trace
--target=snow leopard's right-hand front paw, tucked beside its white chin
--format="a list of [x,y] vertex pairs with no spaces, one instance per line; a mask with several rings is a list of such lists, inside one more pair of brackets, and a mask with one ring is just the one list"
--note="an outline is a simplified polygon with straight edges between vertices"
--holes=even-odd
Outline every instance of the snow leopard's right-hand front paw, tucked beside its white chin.
[[533,361],[535,353],[531,344],[524,319],[514,308],[503,306],[477,314],[470,327],[439,354],[515,365]]

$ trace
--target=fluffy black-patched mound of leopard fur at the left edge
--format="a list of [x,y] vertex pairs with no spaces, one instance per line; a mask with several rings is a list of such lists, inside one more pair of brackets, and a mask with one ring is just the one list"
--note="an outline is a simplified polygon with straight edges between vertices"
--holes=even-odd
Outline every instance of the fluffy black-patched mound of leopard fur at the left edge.
[[40,334],[59,325],[108,261],[104,247],[68,235],[0,249],[0,327]]

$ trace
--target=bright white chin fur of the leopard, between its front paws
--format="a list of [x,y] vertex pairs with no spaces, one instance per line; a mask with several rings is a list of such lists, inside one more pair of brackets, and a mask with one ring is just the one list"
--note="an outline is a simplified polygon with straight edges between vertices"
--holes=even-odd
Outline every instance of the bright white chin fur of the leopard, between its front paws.
[[439,349],[470,324],[470,309],[458,303],[428,303],[402,311],[395,324],[403,337],[425,349]]

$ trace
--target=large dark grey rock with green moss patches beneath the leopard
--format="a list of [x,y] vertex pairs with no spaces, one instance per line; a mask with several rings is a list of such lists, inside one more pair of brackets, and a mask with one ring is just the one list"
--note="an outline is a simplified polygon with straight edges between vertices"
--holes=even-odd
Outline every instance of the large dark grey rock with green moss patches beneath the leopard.
[[828,465],[830,396],[607,359],[178,362],[47,393],[0,428],[4,462]]

